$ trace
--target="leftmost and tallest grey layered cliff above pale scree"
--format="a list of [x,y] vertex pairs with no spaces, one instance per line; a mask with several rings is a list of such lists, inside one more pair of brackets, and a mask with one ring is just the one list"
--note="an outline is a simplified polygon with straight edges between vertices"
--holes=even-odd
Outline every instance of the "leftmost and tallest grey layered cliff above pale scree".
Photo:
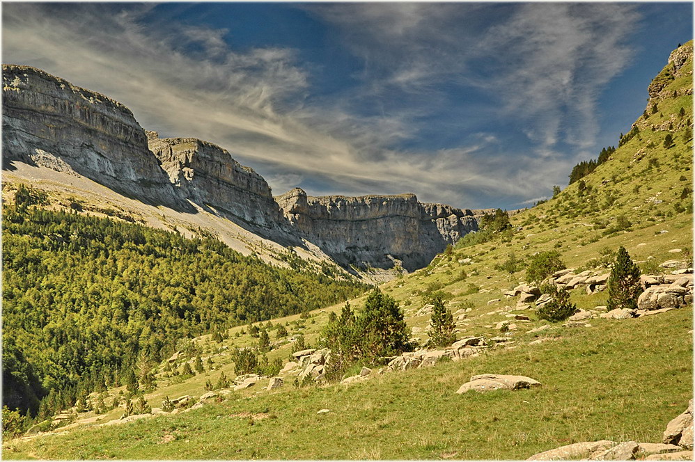
[[35,67],[3,65],[2,127],[5,164],[24,161],[93,178],[127,196],[173,202],[142,127],[130,109],[104,95]]

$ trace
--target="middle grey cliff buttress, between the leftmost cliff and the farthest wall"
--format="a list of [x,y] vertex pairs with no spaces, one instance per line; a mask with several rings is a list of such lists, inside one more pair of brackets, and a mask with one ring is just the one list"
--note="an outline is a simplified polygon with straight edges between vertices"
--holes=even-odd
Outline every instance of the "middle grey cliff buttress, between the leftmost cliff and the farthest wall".
[[263,228],[277,228],[283,222],[267,182],[232,159],[227,150],[196,138],[147,135],[150,150],[181,198]]

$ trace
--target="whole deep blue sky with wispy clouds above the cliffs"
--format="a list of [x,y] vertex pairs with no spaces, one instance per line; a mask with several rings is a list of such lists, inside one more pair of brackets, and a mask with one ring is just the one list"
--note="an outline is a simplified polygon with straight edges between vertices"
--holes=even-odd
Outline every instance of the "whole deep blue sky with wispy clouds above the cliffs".
[[693,3],[7,3],[2,62],[192,136],[274,195],[518,209],[617,145]]

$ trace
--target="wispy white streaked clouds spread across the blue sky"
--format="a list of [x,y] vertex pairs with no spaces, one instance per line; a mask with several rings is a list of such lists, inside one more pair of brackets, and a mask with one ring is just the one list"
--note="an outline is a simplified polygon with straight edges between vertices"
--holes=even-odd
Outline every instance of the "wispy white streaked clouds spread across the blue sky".
[[[595,88],[627,60],[621,21],[634,19],[628,6],[536,4],[504,10],[499,29],[486,30],[485,8],[472,3],[311,5],[365,66],[352,93],[309,104],[309,71],[295,50],[234,51],[224,29],[153,26],[141,21],[153,4],[118,8],[6,3],[3,61],[109,95],[160,136],[217,143],[256,167],[274,194],[307,182],[318,185],[313,194],[414,192],[459,207],[538,197],[566,182],[575,159],[553,145],[591,140]],[[501,72],[474,79],[469,66],[481,57]],[[394,149],[418,139],[423,117],[453,107],[444,83],[499,95],[490,124],[519,118],[537,148],[510,151],[485,132],[462,148]],[[361,115],[366,103],[382,114]]]

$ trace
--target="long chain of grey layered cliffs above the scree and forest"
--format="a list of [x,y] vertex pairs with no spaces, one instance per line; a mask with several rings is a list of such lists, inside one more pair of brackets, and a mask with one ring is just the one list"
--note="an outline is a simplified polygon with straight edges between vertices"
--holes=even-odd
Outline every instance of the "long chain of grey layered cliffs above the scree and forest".
[[295,188],[274,198],[265,179],[224,148],[159,138],[123,104],[35,67],[3,65],[3,99],[6,170],[28,164],[146,204],[207,212],[251,231],[256,243],[319,248],[351,271],[414,271],[478,229],[481,211],[422,203],[414,194],[311,197]]

